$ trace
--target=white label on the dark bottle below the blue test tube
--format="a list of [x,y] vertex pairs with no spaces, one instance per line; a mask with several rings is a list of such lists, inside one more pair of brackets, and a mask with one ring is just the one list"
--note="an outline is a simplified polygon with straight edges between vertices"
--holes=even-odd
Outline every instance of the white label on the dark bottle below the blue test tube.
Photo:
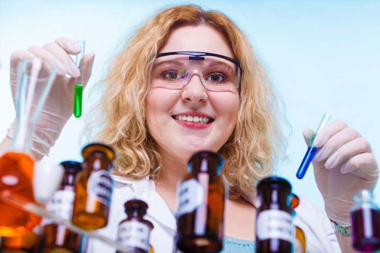
[[259,213],[256,223],[259,240],[282,239],[293,242],[293,219],[289,213],[282,210],[265,210]]

